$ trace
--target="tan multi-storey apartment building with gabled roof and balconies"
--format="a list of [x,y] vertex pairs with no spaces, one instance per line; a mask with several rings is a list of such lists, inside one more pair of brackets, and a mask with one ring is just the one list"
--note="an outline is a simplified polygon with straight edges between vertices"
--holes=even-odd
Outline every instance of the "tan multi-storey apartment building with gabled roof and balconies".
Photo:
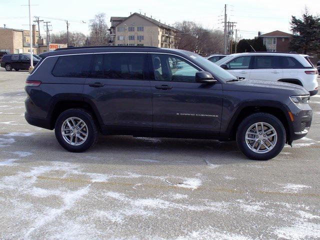
[[158,46],[174,48],[176,29],[145,14],[111,16],[110,45]]

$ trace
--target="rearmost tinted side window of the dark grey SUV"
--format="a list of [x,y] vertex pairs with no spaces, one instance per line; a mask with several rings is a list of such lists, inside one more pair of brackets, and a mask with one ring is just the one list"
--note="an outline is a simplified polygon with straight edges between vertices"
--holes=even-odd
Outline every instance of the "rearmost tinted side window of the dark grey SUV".
[[91,54],[59,56],[52,75],[59,77],[87,77]]

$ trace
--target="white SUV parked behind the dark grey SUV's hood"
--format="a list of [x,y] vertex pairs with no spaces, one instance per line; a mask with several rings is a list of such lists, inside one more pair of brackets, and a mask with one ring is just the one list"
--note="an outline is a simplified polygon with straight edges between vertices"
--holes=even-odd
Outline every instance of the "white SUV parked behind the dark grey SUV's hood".
[[315,95],[317,69],[308,55],[289,52],[243,52],[230,54],[215,62],[239,78],[283,81],[303,86]]

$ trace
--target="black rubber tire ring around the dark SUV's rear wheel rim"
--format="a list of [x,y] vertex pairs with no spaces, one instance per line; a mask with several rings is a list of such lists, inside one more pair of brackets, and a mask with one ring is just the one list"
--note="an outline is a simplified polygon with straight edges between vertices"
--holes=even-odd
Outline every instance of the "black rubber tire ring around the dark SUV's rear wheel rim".
[[[71,145],[64,140],[61,132],[63,122],[69,117],[80,118],[87,125],[87,138],[80,145]],[[54,126],[55,137],[60,145],[71,152],[82,152],[93,146],[98,139],[98,127],[94,116],[89,111],[81,108],[72,108],[63,111],[56,119]]]

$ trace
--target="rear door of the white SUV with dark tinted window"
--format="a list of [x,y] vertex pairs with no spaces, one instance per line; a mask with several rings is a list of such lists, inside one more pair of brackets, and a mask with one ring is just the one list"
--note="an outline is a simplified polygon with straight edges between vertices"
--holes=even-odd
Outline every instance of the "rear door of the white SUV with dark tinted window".
[[279,56],[256,55],[254,56],[251,79],[277,81],[283,76],[283,71],[279,64]]

